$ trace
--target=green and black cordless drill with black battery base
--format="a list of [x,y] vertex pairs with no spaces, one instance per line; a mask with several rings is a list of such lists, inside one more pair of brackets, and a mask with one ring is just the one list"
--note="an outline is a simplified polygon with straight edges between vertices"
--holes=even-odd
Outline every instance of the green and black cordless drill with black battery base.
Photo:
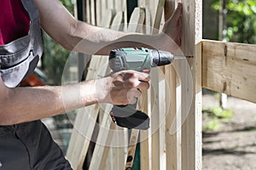
[[[185,56],[148,48],[118,48],[109,54],[109,66],[114,71],[150,71],[152,67],[171,64],[173,59],[185,59]],[[149,117],[143,111],[137,111],[137,103],[132,105],[113,105],[110,116],[120,127],[148,129]]]

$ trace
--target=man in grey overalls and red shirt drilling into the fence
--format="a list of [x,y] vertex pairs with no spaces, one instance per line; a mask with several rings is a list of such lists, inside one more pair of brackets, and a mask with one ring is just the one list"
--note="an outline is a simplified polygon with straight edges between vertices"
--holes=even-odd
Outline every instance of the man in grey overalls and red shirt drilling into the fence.
[[[3,0],[1,3],[0,170],[71,169],[48,129],[38,120],[96,103],[134,103],[140,95],[137,89],[149,87],[148,74],[136,71],[119,71],[65,87],[19,87],[43,51],[39,26],[64,48],[86,54],[108,55],[111,49],[123,47],[154,47],[173,52],[180,45],[181,4],[166,22],[163,32],[146,36],[75,20],[57,0]],[[77,89],[79,94],[74,93]],[[68,99],[63,98],[62,90],[70,94]]]

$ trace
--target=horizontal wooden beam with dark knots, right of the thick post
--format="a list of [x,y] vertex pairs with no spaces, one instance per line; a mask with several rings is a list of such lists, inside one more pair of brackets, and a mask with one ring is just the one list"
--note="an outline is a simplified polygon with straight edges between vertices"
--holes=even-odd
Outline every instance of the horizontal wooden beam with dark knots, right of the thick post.
[[256,45],[203,40],[202,87],[256,103]]

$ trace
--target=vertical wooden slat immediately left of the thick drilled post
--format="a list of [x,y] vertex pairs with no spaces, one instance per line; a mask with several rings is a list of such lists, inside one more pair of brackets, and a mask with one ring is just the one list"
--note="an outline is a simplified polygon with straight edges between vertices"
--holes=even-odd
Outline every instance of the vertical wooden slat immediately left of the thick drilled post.
[[[168,20],[175,9],[174,0],[166,0],[164,7],[165,20]],[[180,155],[178,150],[180,145],[178,144],[178,132],[171,132],[172,128],[177,128],[177,96],[176,96],[176,80],[177,75],[172,65],[165,66],[166,82],[169,86],[166,86],[166,92],[170,91],[170,95],[166,96],[166,170],[176,170],[180,167]]]

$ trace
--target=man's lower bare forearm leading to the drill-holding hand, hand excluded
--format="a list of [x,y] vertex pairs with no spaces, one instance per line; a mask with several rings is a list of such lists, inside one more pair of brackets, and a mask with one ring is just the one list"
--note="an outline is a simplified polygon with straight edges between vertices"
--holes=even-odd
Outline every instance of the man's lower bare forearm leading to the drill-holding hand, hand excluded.
[[9,97],[0,102],[0,125],[55,116],[97,101],[94,81],[64,87],[9,88]]

